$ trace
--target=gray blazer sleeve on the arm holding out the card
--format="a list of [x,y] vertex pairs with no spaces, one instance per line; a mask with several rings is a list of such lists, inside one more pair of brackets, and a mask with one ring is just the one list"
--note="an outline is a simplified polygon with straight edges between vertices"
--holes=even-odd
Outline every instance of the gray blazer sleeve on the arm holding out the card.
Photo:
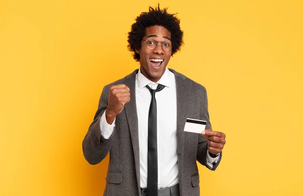
[[[207,91],[204,86],[202,86],[201,89],[201,94],[200,94],[200,102],[199,102],[199,109],[200,109],[200,119],[206,119],[207,124],[206,124],[206,129],[211,129],[212,130],[212,125],[210,122],[210,115],[208,111],[208,99],[207,99]],[[205,136],[202,134],[199,134],[198,138],[198,148],[197,148],[197,161],[206,166],[208,169],[215,171],[221,161],[222,158],[222,152],[220,154],[220,158],[217,163],[213,163],[213,167],[210,167],[207,164],[207,141],[205,139]]]

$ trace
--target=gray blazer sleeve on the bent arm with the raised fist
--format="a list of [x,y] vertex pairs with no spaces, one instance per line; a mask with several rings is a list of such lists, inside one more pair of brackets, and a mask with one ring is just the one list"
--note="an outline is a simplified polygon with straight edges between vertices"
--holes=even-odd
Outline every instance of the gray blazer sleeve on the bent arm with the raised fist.
[[100,118],[108,105],[109,85],[105,86],[100,96],[97,112],[94,120],[88,128],[88,131],[82,142],[82,150],[86,161],[89,164],[95,165],[100,163],[110,152],[113,135],[105,139],[100,130]]

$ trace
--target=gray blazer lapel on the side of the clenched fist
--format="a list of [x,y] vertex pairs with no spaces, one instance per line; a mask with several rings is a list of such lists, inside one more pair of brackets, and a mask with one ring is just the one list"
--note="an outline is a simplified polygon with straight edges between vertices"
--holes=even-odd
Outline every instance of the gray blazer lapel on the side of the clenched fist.
[[[123,81],[130,89],[130,101],[124,105],[126,118],[129,126],[134,158],[135,158],[135,169],[138,184],[138,191],[140,190],[140,157],[139,157],[139,134],[138,134],[138,117],[136,107],[136,74],[138,70],[125,77]],[[122,83],[122,82],[121,82]]]

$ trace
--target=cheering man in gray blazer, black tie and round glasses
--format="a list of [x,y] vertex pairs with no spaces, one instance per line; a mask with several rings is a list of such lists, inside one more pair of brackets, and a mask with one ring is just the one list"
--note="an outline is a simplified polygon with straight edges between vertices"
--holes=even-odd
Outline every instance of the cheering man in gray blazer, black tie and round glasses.
[[[83,153],[97,164],[110,152],[104,195],[199,195],[196,160],[211,170],[221,160],[225,134],[211,130],[205,87],[166,67],[179,24],[159,6],[141,13],[128,36],[140,69],[103,89]],[[187,118],[207,129],[185,132]]]

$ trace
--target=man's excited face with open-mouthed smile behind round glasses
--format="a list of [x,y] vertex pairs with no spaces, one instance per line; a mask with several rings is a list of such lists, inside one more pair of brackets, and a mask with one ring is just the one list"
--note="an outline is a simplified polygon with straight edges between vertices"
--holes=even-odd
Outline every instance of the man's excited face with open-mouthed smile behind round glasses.
[[154,50],[149,50],[145,41],[142,40],[141,47],[136,50],[136,53],[140,55],[141,73],[150,81],[157,82],[164,74],[172,55],[172,51],[165,52],[163,50],[161,41],[170,43],[171,33],[163,26],[151,26],[145,29],[145,35],[142,39],[159,41]]

